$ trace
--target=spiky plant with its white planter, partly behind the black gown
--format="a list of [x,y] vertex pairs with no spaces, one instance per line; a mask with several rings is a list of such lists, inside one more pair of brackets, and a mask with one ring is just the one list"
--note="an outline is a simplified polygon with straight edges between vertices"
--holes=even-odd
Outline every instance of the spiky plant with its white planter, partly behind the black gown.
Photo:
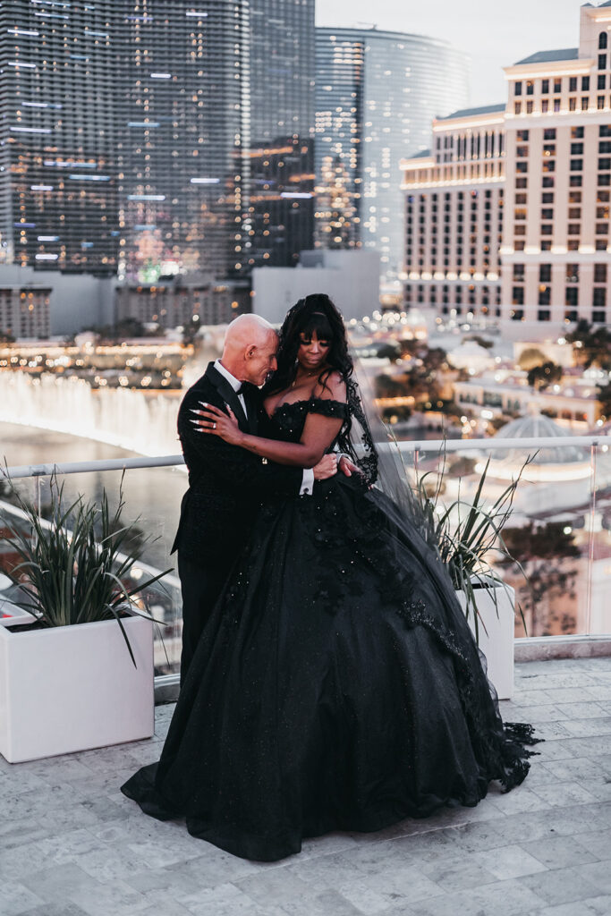
[[[417,475],[413,489],[412,504],[422,533],[448,567],[477,645],[486,656],[488,678],[500,700],[511,699],[514,690],[516,597],[492,562],[497,559],[516,563],[523,573],[507,551],[502,532],[511,516],[520,477],[531,460],[527,459],[517,477],[490,506],[482,500],[489,459],[471,502],[461,498],[459,489],[459,496],[451,504],[440,505],[444,462],[434,486],[429,480],[433,472],[428,472]],[[518,612],[524,621],[519,605]]]

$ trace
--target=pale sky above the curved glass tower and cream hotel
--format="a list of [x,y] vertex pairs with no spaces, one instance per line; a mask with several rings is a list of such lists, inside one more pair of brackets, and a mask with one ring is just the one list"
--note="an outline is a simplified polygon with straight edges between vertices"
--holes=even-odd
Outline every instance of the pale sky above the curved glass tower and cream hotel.
[[579,0],[316,0],[316,24],[376,25],[444,38],[471,58],[471,104],[487,105],[507,101],[503,67],[538,50],[577,47],[580,5]]

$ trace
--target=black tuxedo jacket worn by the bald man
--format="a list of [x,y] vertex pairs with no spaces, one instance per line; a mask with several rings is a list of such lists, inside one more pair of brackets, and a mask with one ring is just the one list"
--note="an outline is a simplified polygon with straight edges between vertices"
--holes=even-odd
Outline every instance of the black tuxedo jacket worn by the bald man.
[[229,382],[214,367],[187,391],[180,404],[178,431],[189,469],[189,489],[182,497],[179,529],[172,552],[192,562],[209,565],[226,559],[245,542],[258,508],[271,496],[299,496],[303,472],[267,461],[245,449],[224,442],[219,436],[198,431],[192,409],[201,401],[234,411],[240,429],[255,433],[263,412],[258,388],[243,388],[247,418]]

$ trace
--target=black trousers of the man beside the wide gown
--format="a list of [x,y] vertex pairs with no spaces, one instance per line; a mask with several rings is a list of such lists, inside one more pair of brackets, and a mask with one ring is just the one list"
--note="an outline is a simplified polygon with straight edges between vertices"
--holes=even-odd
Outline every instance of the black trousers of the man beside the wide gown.
[[179,550],[179,576],[182,591],[182,652],[180,654],[180,686],[184,679],[202,632],[216,600],[229,578],[234,557],[215,558],[210,565],[193,562]]

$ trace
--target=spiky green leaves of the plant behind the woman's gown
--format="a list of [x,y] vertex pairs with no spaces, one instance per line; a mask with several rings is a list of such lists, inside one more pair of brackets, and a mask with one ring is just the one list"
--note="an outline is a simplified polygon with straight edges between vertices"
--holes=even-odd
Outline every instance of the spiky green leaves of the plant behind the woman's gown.
[[[445,455],[441,473],[429,471],[426,474],[416,474],[412,506],[420,519],[420,529],[425,540],[439,553],[447,566],[456,591],[464,593],[465,615],[467,619],[471,614],[474,616],[475,639],[478,642],[479,625],[482,623],[486,630],[486,624],[477,607],[477,594],[482,594],[483,589],[492,594],[498,616],[496,588],[491,589],[490,583],[501,585],[507,592],[507,584],[492,565],[494,559],[516,565],[528,583],[523,567],[507,550],[503,529],[511,517],[514,496],[522,474],[533,460],[534,455],[529,455],[517,476],[490,505],[486,505],[482,496],[490,465],[489,458],[471,502],[461,498],[459,484],[457,498],[450,505],[441,507],[439,504],[445,474]],[[437,477],[434,488],[429,486],[431,476]],[[518,611],[526,631],[526,621],[519,603]]]

